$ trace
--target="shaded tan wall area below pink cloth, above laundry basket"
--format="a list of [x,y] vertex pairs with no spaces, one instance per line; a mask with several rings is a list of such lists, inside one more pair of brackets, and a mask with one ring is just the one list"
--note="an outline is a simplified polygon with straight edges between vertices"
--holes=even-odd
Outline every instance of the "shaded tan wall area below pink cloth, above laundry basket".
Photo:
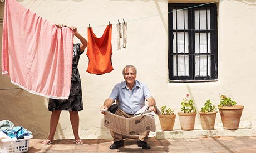
[[0,120],[9,120],[14,126],[23,126],[35,138],[47,136],[50,123],[50,113],[45,105],[47,98],[23,89],[1,89],[0,97]]

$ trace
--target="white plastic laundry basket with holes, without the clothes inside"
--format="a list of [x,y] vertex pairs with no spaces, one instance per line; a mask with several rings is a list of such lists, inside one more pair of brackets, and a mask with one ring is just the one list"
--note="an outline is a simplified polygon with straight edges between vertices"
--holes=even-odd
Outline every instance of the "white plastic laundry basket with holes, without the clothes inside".
[[0,153],[27,152],[31,138],[33,135],[24,136],[24,139],[0,139]]

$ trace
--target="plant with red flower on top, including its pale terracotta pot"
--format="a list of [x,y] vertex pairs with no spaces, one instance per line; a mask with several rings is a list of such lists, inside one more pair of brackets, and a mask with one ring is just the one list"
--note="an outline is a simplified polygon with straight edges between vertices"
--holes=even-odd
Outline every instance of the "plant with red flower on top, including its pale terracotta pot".
[[189,94],[181,102],[181,111],[178,112],[181,130],[194,130],[196,109],[194,101],[190,99]]

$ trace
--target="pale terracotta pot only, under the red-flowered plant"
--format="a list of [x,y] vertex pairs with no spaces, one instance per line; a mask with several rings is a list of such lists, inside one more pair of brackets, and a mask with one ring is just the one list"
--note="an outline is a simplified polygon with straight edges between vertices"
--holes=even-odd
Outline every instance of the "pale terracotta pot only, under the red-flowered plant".
[[194,130],[196,113],[179,112],[178,115],[179,115],[181,130],[184,130],[184,131]]

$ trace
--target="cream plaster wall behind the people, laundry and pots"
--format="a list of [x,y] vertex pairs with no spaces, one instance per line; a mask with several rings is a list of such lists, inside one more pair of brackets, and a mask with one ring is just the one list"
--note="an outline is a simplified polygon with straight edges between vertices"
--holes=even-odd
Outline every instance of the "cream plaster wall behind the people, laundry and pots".
[[[23,6],[50,21],[52,24],[75,25],[87,38],[90,24],[98,37],[105,27],[112,25],[112,64],[114,70],[104,75],[86,72],[88,58],[81,55],[80,69],[84,110],[80,112],[81,139],[111,139],[103,126],[99,108],[111,93],[114,85],[122,80],[122,68],[127,64],[137,67],[137,80],[147,84],[159,108],[168,105],[180,111],[180,103],[188,93],[199,111],[210,99],[219,104],[220,94],[226,94],[244,105],[241,128],[255,127],[254,78],[256,55],[256,2],[249,0],[223,0],[218,3],[218,81],[208,83],[169,83],[168,81],[168,0],[19,0]],[[203,3],[213,1],[179,1]],[[3,17],[4,3],[0,3]],[[116,23],[127,22],[127,46],[117,50]],[[2,35],[2,25],[0,25]],[[0,38],[2,39],[2,38]],[[77,38],[74,39],[78,43]],[[48,99],[33,95],[9,83],[0,76],[0,120],[8,119],[14,125],[24,126],[33,136],[44,139],[48,135],[51,112],[47,111]],[[156,117],[157,130],[160,130]],[[221,127],[217,114],[216,126]],[[178,116],[174,129],[180,129]],[[199,115],[195,129],[201,129]],[[154,135],[154,132],[151,133]],[[72,127],[68,112],[63,111],[55,139],[72,139]]]

